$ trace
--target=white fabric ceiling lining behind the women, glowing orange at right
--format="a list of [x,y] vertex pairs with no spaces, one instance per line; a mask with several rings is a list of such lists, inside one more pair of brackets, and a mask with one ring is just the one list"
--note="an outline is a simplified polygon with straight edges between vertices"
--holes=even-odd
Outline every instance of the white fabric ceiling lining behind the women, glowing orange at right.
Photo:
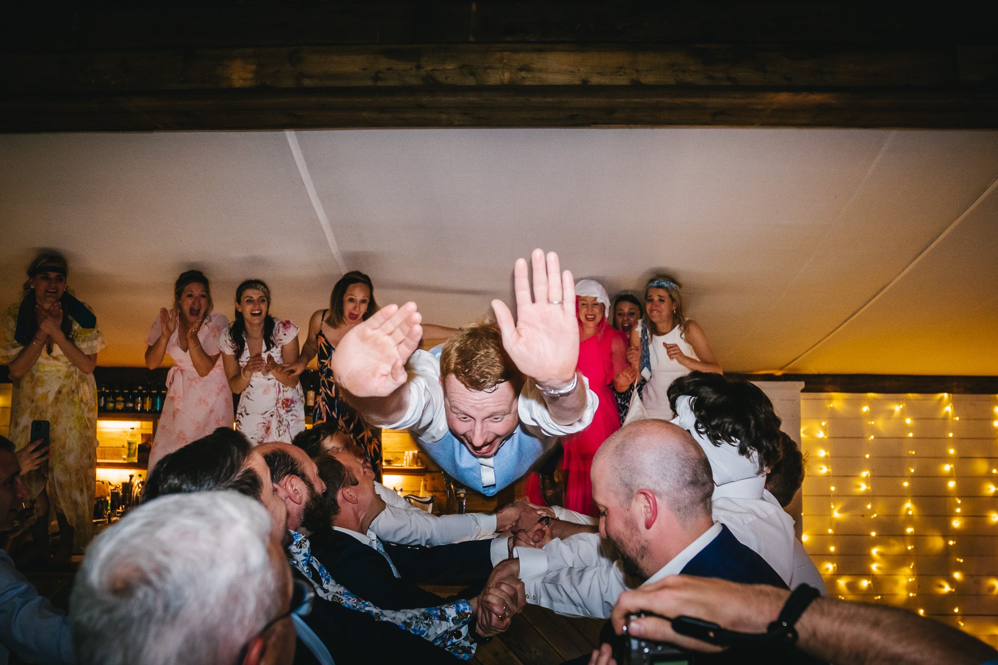
[[[998,132],[403,130],[294,135],[348,269],[459,325],[557,250],[613,293],[656,268],[726,369],[998,375]],[[142,365],[179,271],[270,283],[307,323],[339,276],[284,133],[0,137],[0,301],[39,247]],[[872,300],[872,301],[871,301]]]

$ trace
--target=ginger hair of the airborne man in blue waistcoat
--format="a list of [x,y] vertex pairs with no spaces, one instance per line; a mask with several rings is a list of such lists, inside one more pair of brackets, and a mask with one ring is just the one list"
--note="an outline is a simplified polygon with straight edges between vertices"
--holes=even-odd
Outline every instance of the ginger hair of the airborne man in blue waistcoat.
[[514,388],[523,384],[523,375],[502,346],[502,333],[493,321],[461,328],[450,336],[440,353],[440,378],[453,374],[470,390],[492,390],[504,381]]

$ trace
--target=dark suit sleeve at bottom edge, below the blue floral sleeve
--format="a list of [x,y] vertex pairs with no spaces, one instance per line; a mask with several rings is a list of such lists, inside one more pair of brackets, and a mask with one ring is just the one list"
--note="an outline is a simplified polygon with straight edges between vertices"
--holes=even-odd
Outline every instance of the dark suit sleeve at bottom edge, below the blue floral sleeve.
[[305,623],[329,649],[336,665],[400,663],[457,665],[448,651],[386,621],[315,598]]

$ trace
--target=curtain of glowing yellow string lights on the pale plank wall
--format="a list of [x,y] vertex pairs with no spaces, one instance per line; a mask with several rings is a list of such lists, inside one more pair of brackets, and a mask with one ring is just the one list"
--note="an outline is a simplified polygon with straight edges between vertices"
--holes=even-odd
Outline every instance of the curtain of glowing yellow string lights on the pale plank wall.
[[[959,530],[961,533],[966,531],[967,534],[974,536],[986,536],[988,533],[981,529],[987,529],[990,534],[998,537],[998,509],[985,508],[984,511],[980,511],[977,503],[968,501],[967,519],[964,519],[962,499],[959,496],[959,492],[968,487],[966,483],[973,482],[972,477],[986,475],[989,469],[992,476],[991,483],[981,483],[969,487],[975,488],[977,493],[983,491],[983,494],[989,499],[998,496],[998,482],[994,482],[993,478],[998,476],[998,464],[996,464],[998,453],[995,454],[995,458],[988,459],[990,457],[988,453],[979,452],[982,450],[980,444],[967,443],[964,448],[973,447],[973,452],[966,450],[965,454],[985,459],[975,460],[972,467],[969,466],[968,461],[968,467],[960,467],[961,470],[964,470],[961,475],[957,467],[964,464],[964,459],[959,457],[956,446],[960,444],[955,441],[957,439],[955,432],[961,427],[955,426],[955,423],[966,416],[964,420],[968,421],[968,426],[978,428],[972,430],[973,432],[979,432],[980,427],[986,428],[987,423],[991,423],[993,430],[987,432],[989,434],[995,432],[991,441],[993,444],[998,444],[998,406],[996,406],[998,403],[992,402],[991,405],[985,407],[979,401],[967,404],[961,402],[961,411],[964,413],[957,416],[954,413],[955,405],[952,396],[945,393],[940,393],[933,398],[935,400],[934,411],[928,408],[930,402],[927,396],[908,396],[906,400],[903,398],[899,400],[899,396],[894,396],[896,401],[887,402],[886,400],[890,396],[867,393],[866,401],[860,402],[858,405],[855,402],[850,404],[855,396],[836,394],[824,397],[823,404],[810,402],[812,406],[808,408],[817,407],[823,413],[814,413],[810,416],[811,420],[802,423],[801,436],[804,440],[809,440],[809,446],[808,442],[805,441],[804,447],[811,451],[811,455],[821,458],[820,463],[813,467],[815,471],[811,473],[827,479],[828,505],[826,509],[828,512],[820,509],[820,503],[817,506],[811,503],[811,507],[808,508],[806,502],[808,496],[805,495],[805,530],[810,530],[811,534],[818,533],[819,537],[808,539],[807,536],[803,536],[802,539],[807,542],[808,551],[812,555],[818,556],[823,553],[823,556],[827,557],[821,562],[820,571],[826,576],[829,589],[832,585],[836,585],[839,597],[845,599],[858,599],[856,594],[862,593],[862,598],[867,599],[867,601],[872,599],[876,602],[903,605],[915,609],[911,599],[919,594],[919,580],[923,585],[929,583],[927,573],[919,576],[915,569],[916,563],[918,567],[924,567],[924,562],[929,561],[932,574],[931,587],[928,587],[930,590],[923,588],[922,595],[926,592],[952,594],[951,602],[962,601],[962,594],[965,592],[972,594],[986,592],[992,597],[998,596],[998,577],[989,580],[990,586],[988,586],[987,591],[983,589],[981,591],[970,590],[971,588],[982,588],[984,580],[975,580],[974,570],[968,570],[963,563],[963,558],[958,556],[958,554],[964,553],[960,547],[963,541],[959,540],[955,532]],[[998,396],[995,397],[998,398]],[[842,401],[843,398],[844,401]],[[824,407],[827,410],[835,411],[827,411]],[[982,407],[989,410],[985,416],[978,415]],[[852,411],[852,409],[856,411]],[[993,416],[990,413],[991,410],[994,412]],[[823,420],[821,420],[821,416],[824,416]],[[989,419],[987,416],[991,416],[991,418]],[[805,418],[807,418],[806,410]],[[833,419],[836,427],[834,431],[831,431],[829,423]],[[851,421],[853,427],[861,427],[865,432],[845,434],[849,428],[848,425],[843,425],[840,434],[839,423],[848,423],[848,421]],[[974,425],[975,423],[977,425]],[[949,427],[946,427],[947,425]],[[964,435],[963,430],[959,431],[961,437],[981,436],[980,434],[971,435],[970,431]],[[855,438],[850,439],[852,437]],[[898,460],[894,456],[897,456],[898,453],[903,454],[905,448],[902,448],[901,451],[897,451],[897,448],[899,448],[898,442],[904,440],[908,441],[910,447],[907,449],[908,464],[904,464],[904,460],[900,460],[903,466],[898,467]],[[817,447],[815,444],[821,444],[821,447]],[[927,457],[929,462],[936,462],[933,458],[939,456],[937,451],[940,449],[945,451],[943,453],[947,457],[945,463],[940,463],[938,466],[936,464],[921,466],[914,464],[914,457],[918,455]],[[837,456],[834,465],[830,462],[833,455]],[[863,461],[866,461],[865,464],[858,467],[856,463]],[[921,475],[916,478],[915,475],[919,471]],[[836,472],[843,474],[841,479],[835,478]],[[855,475],[851,476],[850,479],[850,474]],[[893,502],[897,499],[893,499],[891,495],[898,493],[891,492],[889,489],[884,496],[873,499],[876,492],[873,487],[873,477],[876,474],[890,477],[892,481],[890,487],[894,488],[897,487],[893,485],[894,479],[897,476],[902,477],[898,479],[904,490],[904,494],[898,498],[901,499],[900,501]],[[841,497],[838,496],[839,491],[837,490],[840,481],[844,483]],[[945,483],[945,493],[939,491],[941,489],[938,485],[940,481]],[[977,481],[977,483],[980,482]],[[916,508],[915,501],[918,499],[913,496],[915,492],[919,496],[929,496],[932,499],[923,499]],[[812,499],[809,500],[813,501],[813,495],[810,497]],[[865,510],[855,510],[852,501],[864,505]],[[895,512],[898,510],[898,504],[900,504],[900,510]],[[816,512],[814,507],[818,507]],[[886,510],[885,517],[877,518],[878,509]],[[919,510],[919,517],[914,516],[915,509]],[[890,516],[894,516],[897,521],[888,518]],[[820,535],[823,533],[820,530],[820,523],[814,523],[815,519],[825,518],[828,519],[826,536]],[[885,518],[886,522],[884,523]],[[872,521],[874,519],[876,521]],[[810,520],[810,524],[807,523],[808,520]],[[835,527],[836,520],[839,520],[837,528]],[[809,528],[806,528],[807,526]],[[839,532],[837,535],[835,534],[836,530]],[[861,556],[854,556],[854,554],[862,553],[861,549],[857,549],[857,545],[861,541],[856,540],[856,538],[863,536],[853,535],[857,533],[866,533],[870,538],[865,541],[869,555],[865,565]],[[938,544],[940,542],[943,543],[941,548]],[[919,551],[918,556],[915,556],[916,549],[925,549],[926,551]],[[898,562],[896,557],[899,552],[906,552],[909,559],[905,562]],[[943,563],[942,557],[946,557],[948,563]],[[839,562],[842,563],[842,568],[838,567]],[[908,573],[903,576],[903,579],[898,574],[898,568],[900,571]],[[890,577],[883,579],[884,584],[881,586],[876,575],[884,574]],[[943,581],[943,579],[947,581]],[[967,591],[964,591],[962,586],[965,581],[967,582]],[[895,588],[896,590],[894,590]],[[888,589],[891,590],[888,591]],[[884,595],[881,596],[877,593],[878,591],[883,592]],[[870,593],[870,595],[866,595],[866,593]],[[948,606],[930,605],[929,611],[938,616],[939,614],[945,615],[952,609],[952,614],[948,614],[949,616],[959,615],[960,607],[964,604],[952,602]],[[925,607],[919,607],[916,611],[920,616],[926,616]],[[962,617],[954,617],[952,621],[963,625],[960,618]],[[975,629],[984,631],[979,623],[972,625],[974,628],[967,628],[972,633]],[[994,632],[998,634],[998,626],[994,628]],[[989,628],[986,634],[991,632],[992,629]]]

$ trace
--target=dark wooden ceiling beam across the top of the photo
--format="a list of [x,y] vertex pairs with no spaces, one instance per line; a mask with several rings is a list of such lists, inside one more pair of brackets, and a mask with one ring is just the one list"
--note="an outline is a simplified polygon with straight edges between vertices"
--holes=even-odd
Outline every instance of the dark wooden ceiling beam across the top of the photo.
[[0,131],[993,129],[983,23],[908,2],[82,10],[3,46]]

